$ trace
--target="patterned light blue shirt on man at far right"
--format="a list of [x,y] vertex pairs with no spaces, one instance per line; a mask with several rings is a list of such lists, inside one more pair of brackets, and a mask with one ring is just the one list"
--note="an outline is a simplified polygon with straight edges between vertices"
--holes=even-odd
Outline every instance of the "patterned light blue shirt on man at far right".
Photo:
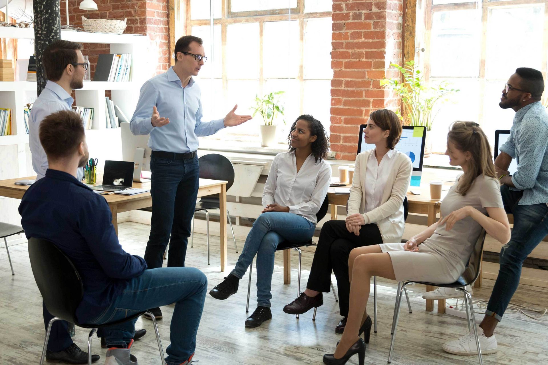
[[500,150],[517,160],[512,182],[523,190],[519,204],[548,203],[548,113],[540,101],[516,112]]

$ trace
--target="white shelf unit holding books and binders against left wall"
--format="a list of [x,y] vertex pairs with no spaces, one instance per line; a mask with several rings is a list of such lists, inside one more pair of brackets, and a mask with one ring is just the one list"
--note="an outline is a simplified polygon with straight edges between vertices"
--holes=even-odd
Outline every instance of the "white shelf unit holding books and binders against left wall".
[[[34,28],[0,27],[0,38],[34,39]],[[86,135],[90,155],[100,160],[101,170],[105,159],[122,159],[119,129],[106,128],[105,90],[111,90],[111,100],[121,108],[127,118],[131,118],[139,97],[139,89],[146,79],[153,76],[156,68],[155,64],[147,62],[150,59],[149,40],[146,36],[132,34],[67,30],[61,31],[61,39],[84,43],[84,45],[85,43],[109,44],[111,53],[132,54],[132,81],[84,82],[84,88],[75,92],[75,105],[94,108],[92,129],[87,130]],[[26,103],[33,102],[36,96],[36,82],[0,82],[0,107],[12,109],[14,132],[13,136],[0,136],[0,179],[35,174],[28,148],[28,135],[25,134],[23,109]],[[20,223],[16,210],[19,202],[13,200],[0,197],[0,222]]]

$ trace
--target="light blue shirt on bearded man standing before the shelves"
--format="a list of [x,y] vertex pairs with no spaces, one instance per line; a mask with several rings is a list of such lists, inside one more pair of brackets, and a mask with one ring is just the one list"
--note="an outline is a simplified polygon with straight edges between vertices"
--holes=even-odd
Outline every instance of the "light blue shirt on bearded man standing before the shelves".
[[[28,117],[28,146],[31,149],[32,169],[36,172],[38,181],[45,176],[45,170],[48,169],[48,157],[45,155],[42,143],[40,143],[39,128],[40,123],[49,114],[62,110],[72,110],[72,96],[62,88],[61,85],[49,80],[45,84],[38,99],[32,105],[30,116]],[[84,169],[78,169],[77,179],[82,180]]]

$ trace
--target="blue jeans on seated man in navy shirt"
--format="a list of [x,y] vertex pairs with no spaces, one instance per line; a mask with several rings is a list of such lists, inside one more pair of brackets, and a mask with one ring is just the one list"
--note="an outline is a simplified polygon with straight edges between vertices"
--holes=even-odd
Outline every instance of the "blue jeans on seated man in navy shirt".
[[[168,365],[189,360],[196,348],[196,332],[206,300],[207,277],[196,268],[157,268],[129,281],[116,297],[90,324],[119,321],[149,308],[175,303],[170,326],[171,344],[166,352]],[[101,328],[107,346],[125,345],[133,338],[135,318],[117,326]],[[152,339],[151,339],[152,341]]]

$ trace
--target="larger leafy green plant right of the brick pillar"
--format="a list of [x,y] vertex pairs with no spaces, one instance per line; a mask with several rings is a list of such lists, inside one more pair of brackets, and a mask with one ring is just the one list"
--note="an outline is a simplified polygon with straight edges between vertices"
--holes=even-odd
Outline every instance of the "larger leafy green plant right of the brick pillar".
[[439,84],[426,85],[423,73],[420,72],[415,61],[408,61],[404,66],[391,63],[391,66],[402,73],[403,82],[400,82],[399,78],[393,78],[380,80],[380,84],[394,90],[401,98],[404,114],[402,116],[399,111],[397,112],[405,125],[426,127],[424,155],[429,157],[432,151],[430,130],[439,111],[439,108],[435,109],[435,106],[447,101],[450,94],[460,90],[450,88],[450,83],[446,80]]

